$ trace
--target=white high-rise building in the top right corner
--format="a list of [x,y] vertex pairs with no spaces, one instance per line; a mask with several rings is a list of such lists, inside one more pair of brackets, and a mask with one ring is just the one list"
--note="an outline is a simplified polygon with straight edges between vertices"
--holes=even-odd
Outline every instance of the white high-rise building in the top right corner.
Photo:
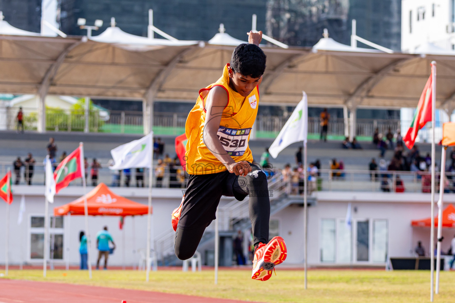
[[432,43],[455,50],[455,0],[402,0],[401,49]]

